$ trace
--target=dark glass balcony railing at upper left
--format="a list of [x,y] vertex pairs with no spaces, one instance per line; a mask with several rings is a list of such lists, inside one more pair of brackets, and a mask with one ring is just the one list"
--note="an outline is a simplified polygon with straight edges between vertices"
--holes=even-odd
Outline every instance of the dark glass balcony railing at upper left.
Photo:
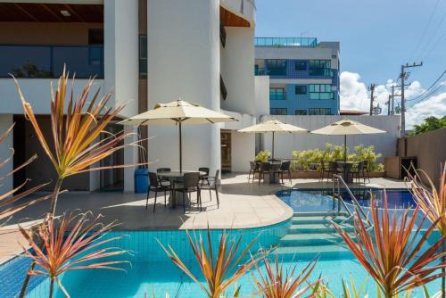
[[103,46],[0,45],[0,77],[59,78],[63,65],[76,78],[103,78]]

